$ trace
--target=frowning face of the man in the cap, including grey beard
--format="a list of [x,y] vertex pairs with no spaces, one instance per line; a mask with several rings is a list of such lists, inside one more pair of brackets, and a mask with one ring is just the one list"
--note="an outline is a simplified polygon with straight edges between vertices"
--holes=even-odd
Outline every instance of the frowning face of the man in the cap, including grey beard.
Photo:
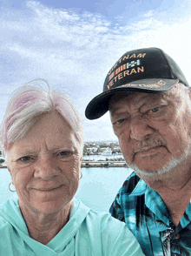
[[110,99],[111,122],[128,165],[152,175],[188,158],[191,102],[188,92],[180,92],[117,93]]

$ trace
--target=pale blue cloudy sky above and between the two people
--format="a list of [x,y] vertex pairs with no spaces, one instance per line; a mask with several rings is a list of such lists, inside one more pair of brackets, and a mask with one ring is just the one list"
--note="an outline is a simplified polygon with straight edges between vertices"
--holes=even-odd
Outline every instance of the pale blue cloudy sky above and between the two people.
[[36,78],[69,94],[85,140],[116,139],[109,115],[84,111],[126,51],[155,46],[174,57],[191,83],[190,0],[0,0],[0,121],[10,94]]

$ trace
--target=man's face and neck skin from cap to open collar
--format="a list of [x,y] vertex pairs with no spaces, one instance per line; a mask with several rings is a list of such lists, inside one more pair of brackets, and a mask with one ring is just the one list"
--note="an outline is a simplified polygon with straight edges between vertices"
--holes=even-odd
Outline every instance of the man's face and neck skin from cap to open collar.
[[117,93],[109,111],[125,160],[161,195],[177,226],[191,198],[190,92]]

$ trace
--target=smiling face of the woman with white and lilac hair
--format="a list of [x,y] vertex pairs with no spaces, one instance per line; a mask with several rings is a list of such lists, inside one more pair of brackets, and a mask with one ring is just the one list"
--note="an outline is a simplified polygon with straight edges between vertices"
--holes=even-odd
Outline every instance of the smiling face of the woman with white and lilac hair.
[[38,120],[10,146],[7,158],[21,209],[58,212],[74,197],[82,153],[75,133],[57,112]]

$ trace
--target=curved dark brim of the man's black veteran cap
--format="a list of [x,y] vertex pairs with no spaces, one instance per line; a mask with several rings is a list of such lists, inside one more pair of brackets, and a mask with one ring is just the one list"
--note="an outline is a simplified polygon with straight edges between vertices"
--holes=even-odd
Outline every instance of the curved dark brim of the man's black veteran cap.
[[[160,81],[162,81],[162,83],[158,85]],[[89,102],[85,110],[85,116],[90,120],[101,118],[102,115],[109,110],[109,99],[116,92],[135,91],[144,93],[166,93],[178,84],[178,82],[179,80],[177,79],[143,79],[118,86],[109,91],[104,91]]]

